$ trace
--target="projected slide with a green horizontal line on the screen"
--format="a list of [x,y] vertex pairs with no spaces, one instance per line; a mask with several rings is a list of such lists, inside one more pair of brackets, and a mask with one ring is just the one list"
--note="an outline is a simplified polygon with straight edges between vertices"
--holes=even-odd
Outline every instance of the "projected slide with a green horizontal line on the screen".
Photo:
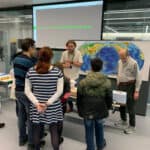
[[100,40],[103,1],[33,7],[36,45],[64,48],[69,39]]

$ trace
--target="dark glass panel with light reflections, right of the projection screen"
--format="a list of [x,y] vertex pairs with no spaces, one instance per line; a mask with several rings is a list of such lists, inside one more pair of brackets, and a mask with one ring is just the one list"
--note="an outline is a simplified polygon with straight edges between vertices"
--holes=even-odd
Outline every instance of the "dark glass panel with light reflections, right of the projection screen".
[[105,0],[103,31],[150,33],[150,0]]

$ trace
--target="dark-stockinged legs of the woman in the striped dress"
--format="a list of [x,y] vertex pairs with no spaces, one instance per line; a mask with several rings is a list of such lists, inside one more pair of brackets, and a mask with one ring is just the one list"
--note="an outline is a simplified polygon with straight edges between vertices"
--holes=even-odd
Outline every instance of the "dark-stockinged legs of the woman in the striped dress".
[[[59,150],[61,129],[62,129],[62,122],[53,123],[49,125],[53,150]],[[41,124],[34,123],[33,124],[34,150],[40,150],[40,133],[41,133]]]

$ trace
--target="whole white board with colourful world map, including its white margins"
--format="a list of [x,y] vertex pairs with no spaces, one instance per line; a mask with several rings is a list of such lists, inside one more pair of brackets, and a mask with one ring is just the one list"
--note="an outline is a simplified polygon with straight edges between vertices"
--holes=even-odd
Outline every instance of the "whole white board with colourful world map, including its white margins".
[[134,58],[140,68],[141,78],[148,80],[148,71],[150,68],[149,42],[111,42],[111,41],[76,41],[78,50],[83,56],[83,65],[81,70],[86,72],[91,69],[90,60],[99,57],[103,61],[102,72],[106,75],[117,74],[117,64],[119,60],[119,49],[128,49],[129,54]]

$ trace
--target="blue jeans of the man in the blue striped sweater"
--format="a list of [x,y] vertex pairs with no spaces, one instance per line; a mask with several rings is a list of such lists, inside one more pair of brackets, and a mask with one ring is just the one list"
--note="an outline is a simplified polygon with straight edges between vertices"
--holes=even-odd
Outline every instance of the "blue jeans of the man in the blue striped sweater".
[[31,121],[29,120],[30,101],[28,100],[24,92],[17,91],[16,97],[18,107],[19,142],[28,140],[29,144],[32,144],[33,127]]

